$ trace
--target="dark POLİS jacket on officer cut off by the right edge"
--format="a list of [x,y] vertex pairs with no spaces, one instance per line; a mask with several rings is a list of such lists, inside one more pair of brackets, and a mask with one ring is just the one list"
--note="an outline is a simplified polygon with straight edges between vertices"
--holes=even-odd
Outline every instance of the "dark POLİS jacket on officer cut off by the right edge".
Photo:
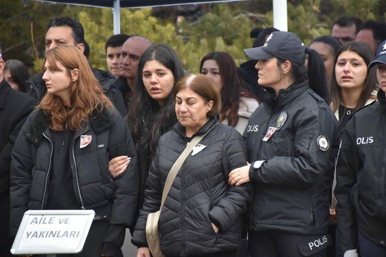
[[336,167],[337,255],[357,248],[358,231],[386,246],[386,99],[356,112],[342,136]]

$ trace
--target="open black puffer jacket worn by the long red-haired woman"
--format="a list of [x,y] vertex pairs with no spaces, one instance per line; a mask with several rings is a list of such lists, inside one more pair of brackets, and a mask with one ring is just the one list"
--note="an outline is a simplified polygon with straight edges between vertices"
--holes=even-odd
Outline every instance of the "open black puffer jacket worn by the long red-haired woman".
[[[83,208],[94,209],[95,219],[110,224],[132,226],[138,196],[138,169],[130,132],[115,108],[93,112],[88,122],[75,132],[70,153],[75,197]],[[11,234],[15,235],[24,212],[45,209],[49,196],[52,167],[52,137],[49,116],[35,110],[24,124],[12,152]],[[80,148],[81,135],[91,142]],[[109,159],[127,155],[131,162],[126,172],[113,179]]]

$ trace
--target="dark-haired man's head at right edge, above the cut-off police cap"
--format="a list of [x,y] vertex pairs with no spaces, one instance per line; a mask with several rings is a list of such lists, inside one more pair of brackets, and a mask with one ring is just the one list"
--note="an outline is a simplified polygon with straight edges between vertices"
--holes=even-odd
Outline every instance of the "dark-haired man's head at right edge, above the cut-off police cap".
[[380,43],[386,40],[386,23],[369,20],[360,27],[355,41],[367,44],[374,56]]

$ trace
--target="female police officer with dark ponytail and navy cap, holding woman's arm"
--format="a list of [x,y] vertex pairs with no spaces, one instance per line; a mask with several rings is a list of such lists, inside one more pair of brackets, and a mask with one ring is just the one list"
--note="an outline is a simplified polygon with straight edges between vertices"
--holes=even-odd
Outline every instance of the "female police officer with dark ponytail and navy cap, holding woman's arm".
[[229,178],[255,189],[251,256],[326,256],[337,122],[323,100],[323,61],[288,32],[273,32],[245,53],[259,60],[258,83],[266,89],[244,133],[251,164]]

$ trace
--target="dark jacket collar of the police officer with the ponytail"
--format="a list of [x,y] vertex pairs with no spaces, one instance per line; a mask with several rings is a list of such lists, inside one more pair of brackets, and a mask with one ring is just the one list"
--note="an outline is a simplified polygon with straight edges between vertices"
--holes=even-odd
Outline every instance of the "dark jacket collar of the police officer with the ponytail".
[[293,83],[286,89],[280,89],[279,94],[276,96],[275,100],[268,102],[267,106],[272,110],[281,109],[283,106],[292,102],[297,96],[303,93],[308,86],[308,80],[295,84]]

